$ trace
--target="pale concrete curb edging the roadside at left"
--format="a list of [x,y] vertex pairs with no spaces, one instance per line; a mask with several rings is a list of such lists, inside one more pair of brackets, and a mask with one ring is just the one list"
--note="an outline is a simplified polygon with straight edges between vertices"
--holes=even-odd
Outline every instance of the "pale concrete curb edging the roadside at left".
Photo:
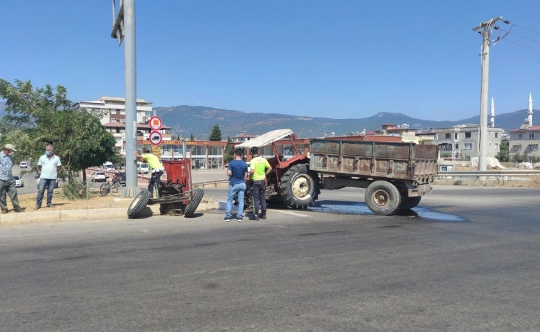
[[[215,210],[219,202],[200,203],[196,212]],[[140,216],[160,215],[159,205],[147,205]],[[53,210],[23,212],[0,215],[0,226],[22,225],[24,223],[46,223],[51,221],[75,221],[93,219],[127,219],[127,208],[106,208],[89,210]]]

